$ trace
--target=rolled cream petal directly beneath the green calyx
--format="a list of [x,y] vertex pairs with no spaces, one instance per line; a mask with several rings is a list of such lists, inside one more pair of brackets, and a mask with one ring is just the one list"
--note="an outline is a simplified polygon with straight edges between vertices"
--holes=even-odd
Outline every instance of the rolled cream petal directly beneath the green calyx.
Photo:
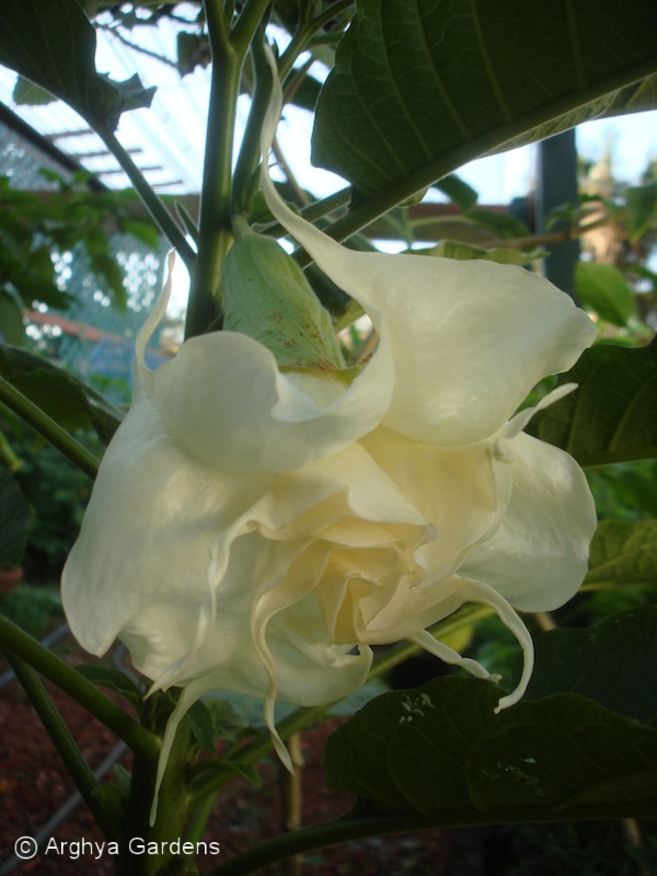
[[302,374],[278,371],[265,347],[220,332],[187,341],[142,380],[169,434],[199,459],[231,472],[285,472],[378,425],[390,403],[392,362],[381,348],[350,387],[326,377],[330,401],[321,404],[302,391]]

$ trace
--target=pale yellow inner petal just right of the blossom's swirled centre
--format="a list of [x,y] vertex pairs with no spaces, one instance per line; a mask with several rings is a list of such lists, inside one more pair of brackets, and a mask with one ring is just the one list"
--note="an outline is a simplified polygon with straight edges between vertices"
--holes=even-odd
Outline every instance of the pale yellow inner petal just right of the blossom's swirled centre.
[[435,539],[423,549],[427,585],[456,572],[473,545],[499,525],[511,470],[494,456],[492,442],[435,447],[380,427],[360,443],[434,526]]

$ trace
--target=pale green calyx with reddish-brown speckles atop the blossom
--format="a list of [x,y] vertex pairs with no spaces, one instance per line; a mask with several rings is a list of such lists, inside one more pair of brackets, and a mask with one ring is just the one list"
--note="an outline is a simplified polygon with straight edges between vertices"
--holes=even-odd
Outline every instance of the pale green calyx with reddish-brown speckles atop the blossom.
[[223,327],[260,341],[283,367],[344,367],[328,312],[277,243],[244,234],[222,269]]

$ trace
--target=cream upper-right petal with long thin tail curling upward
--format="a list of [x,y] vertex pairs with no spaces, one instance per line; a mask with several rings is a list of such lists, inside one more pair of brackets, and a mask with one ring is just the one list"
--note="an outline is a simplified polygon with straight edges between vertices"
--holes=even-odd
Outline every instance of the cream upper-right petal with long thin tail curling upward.
[[[276,85],[264,155],[279,112]],[[534,274],[483,261],[358,253],[292,212],[266,161],[263,189],[279,222],[362,304],[390,346],[395,382],[383,424],[402,435],[445,446],[482,440],[539,380],[567,370],[593,342],[589,318]]]

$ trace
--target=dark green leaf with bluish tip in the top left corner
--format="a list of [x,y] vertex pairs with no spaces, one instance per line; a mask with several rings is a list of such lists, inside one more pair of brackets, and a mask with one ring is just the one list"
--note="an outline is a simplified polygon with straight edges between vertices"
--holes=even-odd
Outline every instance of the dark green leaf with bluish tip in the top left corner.
[[97,130],[149,106],[154,89],[138,77],[112,82],[96,72],[96,37],[77,0],[2,0],[0,62],[66,101]]

